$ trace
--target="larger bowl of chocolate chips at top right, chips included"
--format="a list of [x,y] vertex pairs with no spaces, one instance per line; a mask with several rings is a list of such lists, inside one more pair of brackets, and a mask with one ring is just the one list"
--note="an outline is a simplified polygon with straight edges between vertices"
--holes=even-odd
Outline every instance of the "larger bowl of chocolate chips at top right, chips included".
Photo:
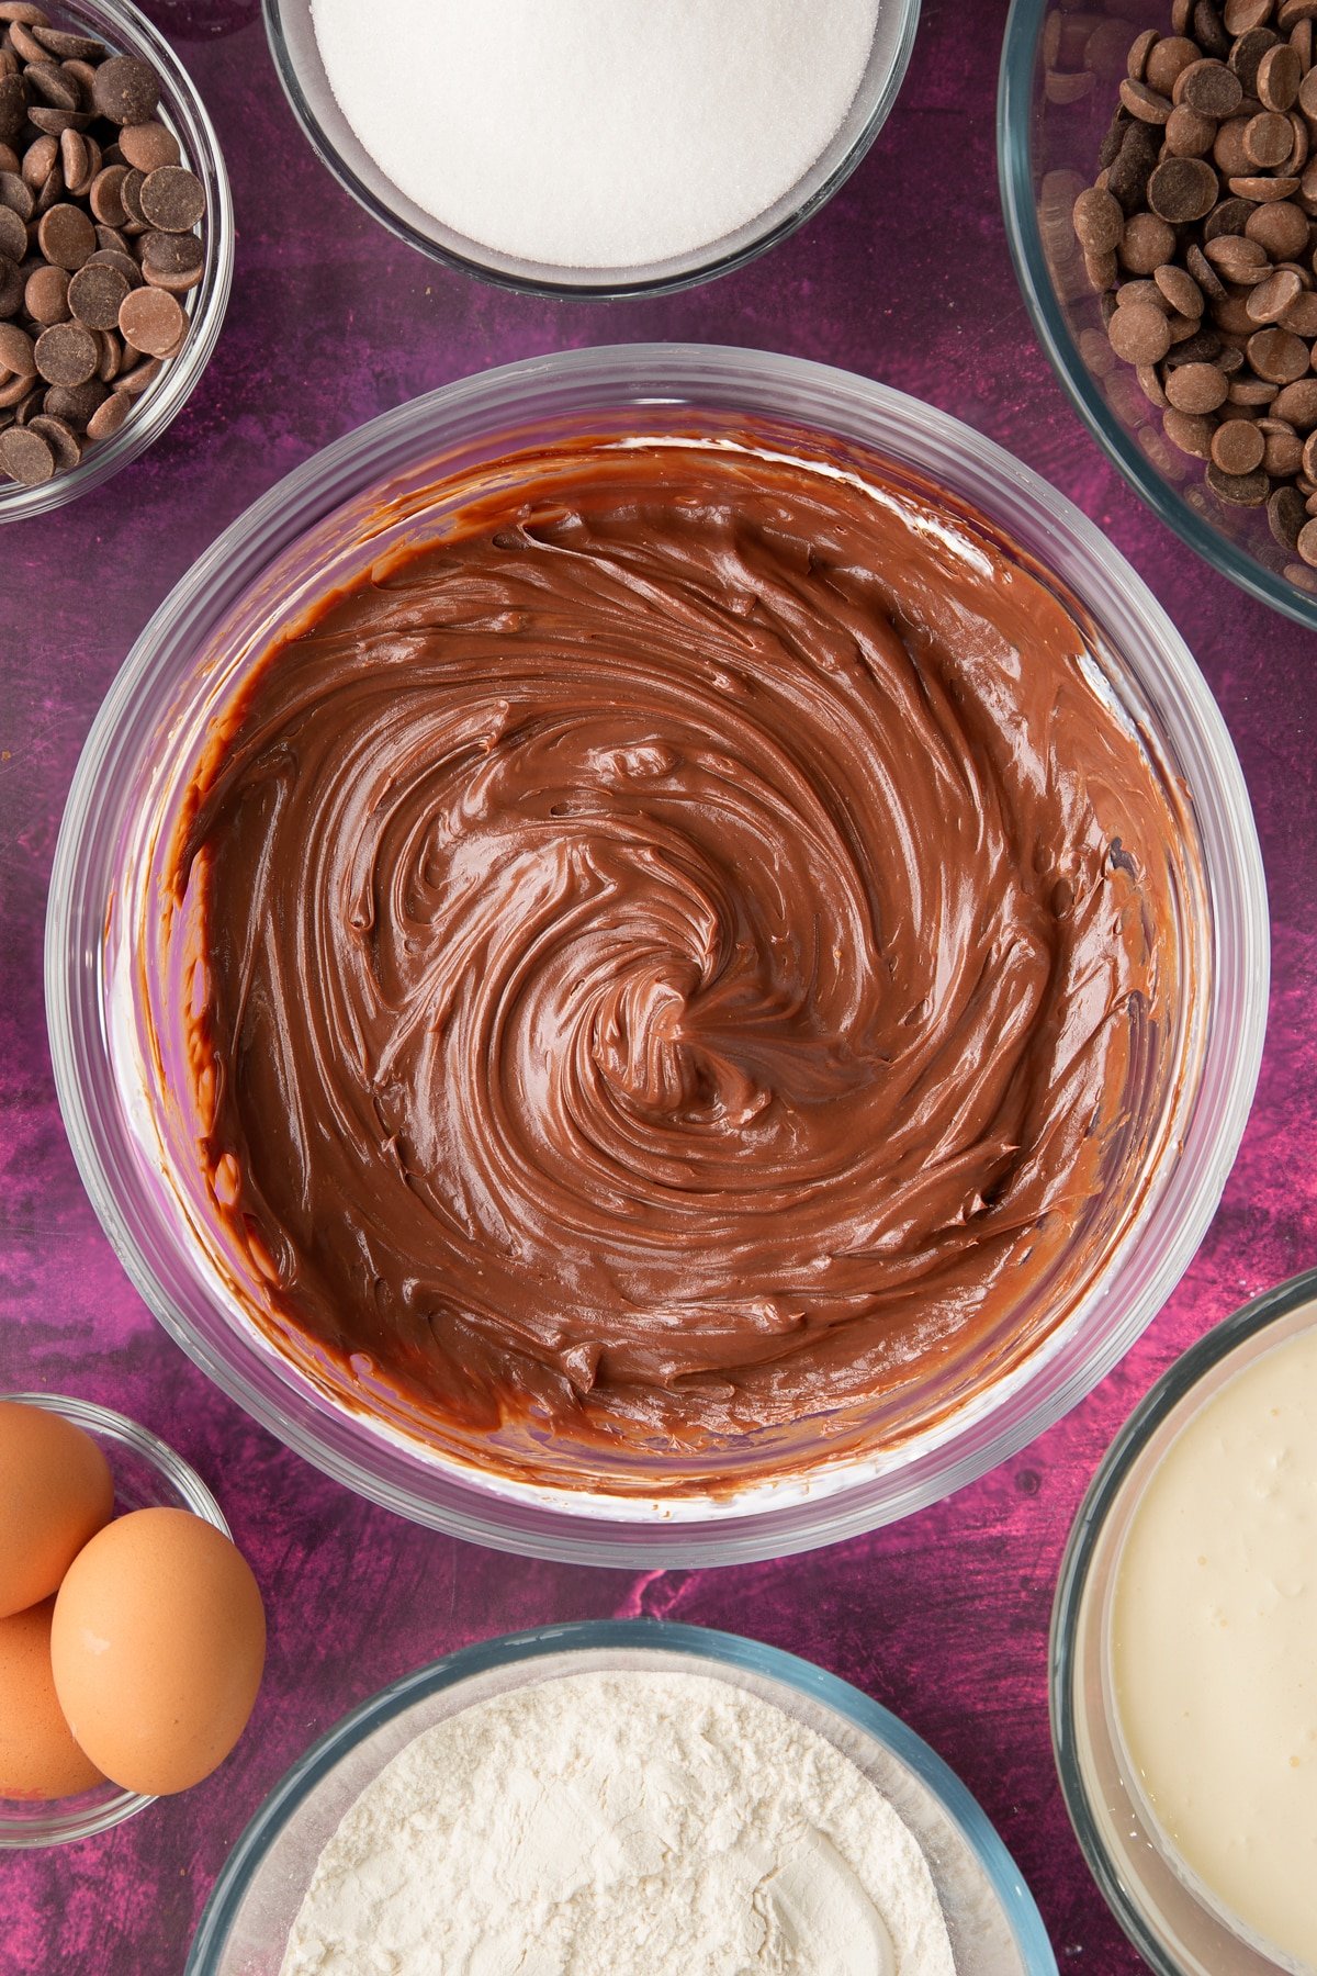
[[1212,567],[1317,628],[1317,8],[1015,0],[997,158],[1076,411]]

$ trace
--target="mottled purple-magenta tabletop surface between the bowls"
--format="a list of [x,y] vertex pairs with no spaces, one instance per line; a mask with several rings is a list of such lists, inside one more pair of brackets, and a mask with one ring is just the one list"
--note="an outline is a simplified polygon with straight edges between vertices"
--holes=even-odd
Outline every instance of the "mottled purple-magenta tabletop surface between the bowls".
[[[0,1976],[180,1970],[239,1832],[349,1705],[488,1634],[638,1612],[806,1654],[894,1709],[993,1818],[1062,1970],[1139,1970],[1056,1788],[1046,1622],[1070,1518],[1135,1399],[1208,1324],[1317,1261],[1317,652],[1141,508],[1035,348],[993,162],[1005,0],[926,0],[891,123],[802,233],[713,287],[624,304],[504,294],[397,245],[304,144],[257,0],[150,12],[219,128],[237,277],[217,356],[156,449],[75,506],[0,530],[0,1389],[79,1393],[172,1441],[257,1571],[271,1654],[251,1729],[205,1784],[105,1838],[0,1855]],[[413,1529],[207,1385],[128,1286],[77,1180],[45,1045],[41,931],[97,703],[219,528],[318,447],[419,391],[545,350],[648,338],[754,344],[881,377],[1001,441],[1108,530],[1185,632],[1238,743],[1272,887],[1276,990],[1258,1107],[1212,1231],[1171,1306],[1068,1421],[873,1537],[782,1563],[636,1575],[521,1563]]]

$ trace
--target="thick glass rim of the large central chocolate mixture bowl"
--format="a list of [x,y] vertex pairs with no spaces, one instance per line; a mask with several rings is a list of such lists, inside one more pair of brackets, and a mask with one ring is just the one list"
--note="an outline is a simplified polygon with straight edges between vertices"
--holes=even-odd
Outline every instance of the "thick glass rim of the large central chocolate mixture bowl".
[[[120,1174],[105,1142],[111,1126],[103,1122],[95,1103],[87,1097],[85,1073],[89,1067],[95,1069],[103,1037],[93,1037],[79,1014],[79,994],[85,990],[77,970],[83,954],[73,935],[77,929],[81,937],[87,915],[83,893],[89,883],[89,854],[83,838],[97,820],[107,761],[111,753],[128,745],[122,735],[128,731],[126,723],[134,713],[136,696],[144,686],[158,686],[156,674],[166,670],[180,622],[195,617],[203,609],[197,599],[207,599],[211,589],[231,581],[233,569],[245,569],[243,583],[253,583],[251,561],[257,549],[263,565],[272,563],[288,549],[294,535],[318,526],[320,518],[348,500],[351,486],[359,490],[367,484],[383,484],[391,474],[403,470],[399,464],[403,456],[417,458],[419,433],[425,435],[426,447],[438,449],[444,433],[458,429],[462,419],[474,417],[472,407],[486,421],[507,419],[525,395],[539,393],[537,407],[545,395],[551,395],[559,409],[571,403],[573,411],[584,415],[604,403],[614,407],[646,401],[671,403],[663,391],[673,389],[695,403],[701,401],[701,391],[711,395],[713,403],[719,403],[713,393],[723,393],[723,401],[733,407],[756,405],[760,411],[766,409],[764,393],[772,391],[778,399],[796,393],[792,399],[796,423],[827,431],[833,429],[829,419],[839,421],[835,429],[849,431],[857,441],[861,433],[869,431],[867,443],[879,451],[881,441],[873,437],[879,421],[896,453],[900,453],[902,439],[910,445],[912,435],[918,433],[926,470],[946,474],[952,488],[960,490],[960,498],[977,502],[995,520],[995,526],[1009,532],[1017,522],[1023,526],[1027,520],[1035,530],[1046,532],[1058,555],[1068,545],[1082,567],[1082,581],[1078,575],[1074,577],[1080,601],[1098,599],[1098,603],[1088,603],[1088,609],[1096,609],[1098,615],[1106,609],[1122,622],[1137,626],[1143,642],[1141,666],[1145,668],[1137,676],[1145,684],[1157,680],[1173,688],[1179,719],[1177,747],[1189,741],[1202,755],[1199,773],[1204,786],[1199,796],[1208,798],[1204,852],[1208,854],[1212,907],[1214,913],[1228,907],[1238,917],[1224,958],[1220,950],[1214,952],[1212,998],[1234,986],[1240,1010],[1232,1026],[1222,1028],[1216,1022],[1206,1033],[1199,1089],[1206,1087],[1206,1069],[1214,1065],[1216,1083],[1204,1103],[1216,1118],[1216,1130],[1208,1142],[1202,1122],[1197,1116],[1187,1120],[1189,1136],[1197,1148],[1197,1166],[1189,1170],[1193,1190],[1185,1184],[1185,1197],[1177,1195],[1175,1219],[1165,1194],[1153,1203],[1153,1219],[1143,1229],[1141,1239],[1147,1239],[1157,1227],[1161,1231],[1157,1251],[1161,1259],[1151,1276],[1137,1286],[1120,1326],[1104,1332],[1100,1350],[1090,1344],[1078,1367],[1068,1365],[1054,1375],[1056,1356],[1045,1354],[1041,1365],[1021,1383],[1021,1395],[1027,1397],[1027,1403],[991,1407],[985,1411],[989,1425],[983,1425],[975,1415],[964,1423],[958,1435],[946,1435],[932,1454],[920,1456],[914,1466],[906,1462],[896,1470],[904,1484],[900,1488],[892,1484],[889,1472],[877,1484],[859,1480],[825,1494],[806,1494],[800,1504],[762,1506],[738,1518],[703,1522],[638,1525],[636,1522],[592,1518],[586,1508],[565,1512],[557,1506],[535,1506],[509,1518],[509,1506],[502,1496],[472,1490],[470,1480],[460,1476],[454,1480],[448,1470],[432,1470],[438,1476],[438,1494],[432,1482],[426,1482],[423,1492],[415,1472],[397,1482],[391,1458],[387,1460],[385,1450],[373,1442],[363,1448],[361,1439],[353,1435],[351,1448],[340,1448],[336,1444],[340,1421],[326,1427],[322,1411],[312,1409],[298,1393],[280,1389],[278,1395],[271,1397],[261,1385],[253,1352],[245,1346],[239,1352],[231,1340],[225,1340],[225,1348],[219,1350],[194,1328],[192,1320],[158,1284],[130,1225],[130,1211],[120,1205]],[[738,391],[742,395],[736,395]],[[521,393],[521,397],[513,399],[513,393]],[[588,405],[581,405],[579,393],[592,393]],[[440,419],[442,427],[436,425]],[[845,419],[855,423],[841,423]],[[861,421],[869,421],[869,427]],[[403,447],[409,449],[405,454],[399,453]],[[353,476],[351,484],[344,480],[346,474]],[[330,496],[324,494],[324,486],[330,486]],[[318,494],[320,506],[312,506]],[[194,622],[188,622],[188,636],[195,636]],[[705,1565],[812,1549],[879,1527],[940,1500],[1025,1446],[1116,1363],[1151,1322],[1189,1265],[1214,1213],[1238,1148],[1266,1029],[1270,966],[1266,879],[1238,757],[1220,709],[1183,638],[1131,565],[1048,482],[948,413],[831,366],[711,344],[596,346],[480,371],[411,399],[346,433],[253,502],[180,577],[111,684],[73,777],[55,848],[49,901],[45,1000],[51,1061],[65,1126],[93,1207],[113,1247],[176,1344],[201,1365],[221,1391],[237,1399],[286,1446],[369,1500],[430,1527],[446,1529],[450,1535],[496,1549],[579,1563]],[[105,913],[105,899],[101,899],[97,913]],[[1222,1148],[1226,1148],[1224,1160]],[[1183,1172],[1179,1162],[1171,1166],[1167,1186],[1175,1188],[1177,1174]],[[1127,1267],[1137,1253],[1139,1243],[1133,1243],[1123,1251],[1120,1267]],[[1116,1280],[1116,1275],[1108,1278],[1106,1294]],[[344,1419],[348,1417],[344,1415]],[[877,1506],[875,1488],[881,1498]],[[896,1496],[900,1502],[892,1508]]]

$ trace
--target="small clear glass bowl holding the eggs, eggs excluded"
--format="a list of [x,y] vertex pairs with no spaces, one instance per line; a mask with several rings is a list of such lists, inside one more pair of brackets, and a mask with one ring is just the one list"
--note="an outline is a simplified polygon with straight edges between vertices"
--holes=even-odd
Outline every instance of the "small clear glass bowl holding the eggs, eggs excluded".
[[[115,1476],[115,1516],[126,1516],[130,1510],[192,1510],[225,1537],[231,1535],[223,1510],[201,1476],[136,1421],[126,1421],[122,1413],[111,1413],[109,1407],[97,1407],[89,1399],[69,1399],[65,1393],[0,1393],[0,1401],[41,1407],[91,1435]],[[0,1798],[0,1852],[89,1840],[154,1802],[138,1790],[120,1790],[109,1780],[81,1790],[75,1798],[38,1802]]]

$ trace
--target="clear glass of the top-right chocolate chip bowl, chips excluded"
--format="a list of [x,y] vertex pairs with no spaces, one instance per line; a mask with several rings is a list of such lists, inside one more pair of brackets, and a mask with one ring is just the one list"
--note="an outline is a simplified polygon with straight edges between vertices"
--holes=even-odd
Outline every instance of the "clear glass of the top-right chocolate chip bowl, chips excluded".
[[[1204,462],[1163,435],[1161,413],[1108,342],[1074,239],[1070,207],[1098,176],[1125,49],[1141,28],[1169,34],[1169,0],[1147,0],[1137,18],[1123,0],[1013,0],[997,93],[997,170],[1015,273],[1074,409],[1153,514],[1212,569],[1317,630],[1317,571],[1279,547],[1264,508],[1218,502],[1204,484]],[[1082,47],[1094,30],[1112,40],[1102,59],[1094,57],[1086,87],[1090,71],[1070,43]],[[1048,63],[1054,45],[1058,65]]]

